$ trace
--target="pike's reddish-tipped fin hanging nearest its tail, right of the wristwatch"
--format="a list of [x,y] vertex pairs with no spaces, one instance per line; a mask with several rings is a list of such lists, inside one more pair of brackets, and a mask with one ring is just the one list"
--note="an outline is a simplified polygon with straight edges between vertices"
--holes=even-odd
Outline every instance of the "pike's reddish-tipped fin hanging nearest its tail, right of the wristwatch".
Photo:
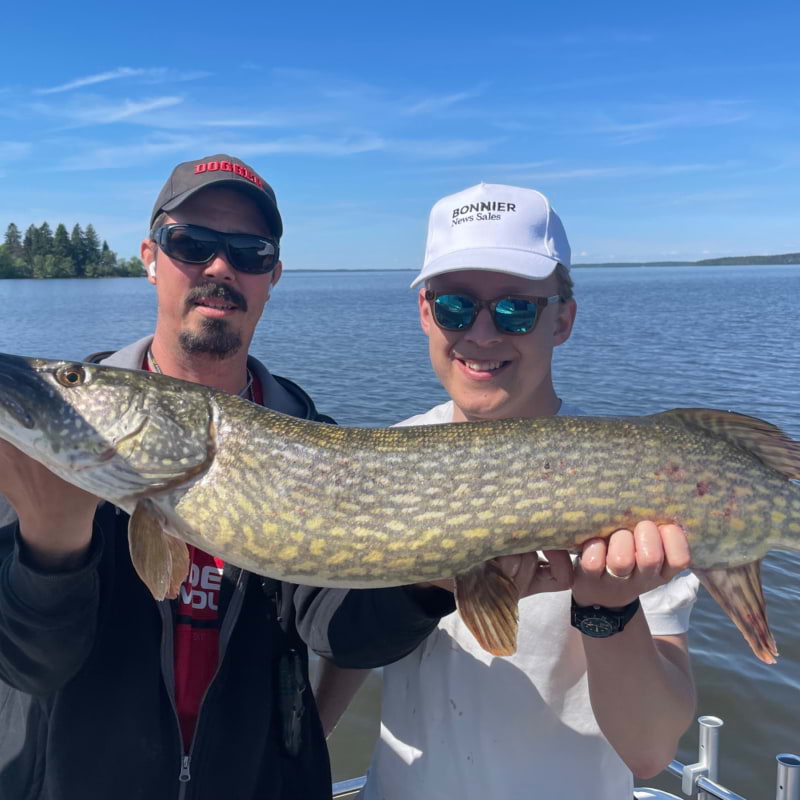
[[730,569],[694,568],[693,572],[741,631],[756,656],[765,664],[774,664],[778,648],[767,622],[761,561]]

